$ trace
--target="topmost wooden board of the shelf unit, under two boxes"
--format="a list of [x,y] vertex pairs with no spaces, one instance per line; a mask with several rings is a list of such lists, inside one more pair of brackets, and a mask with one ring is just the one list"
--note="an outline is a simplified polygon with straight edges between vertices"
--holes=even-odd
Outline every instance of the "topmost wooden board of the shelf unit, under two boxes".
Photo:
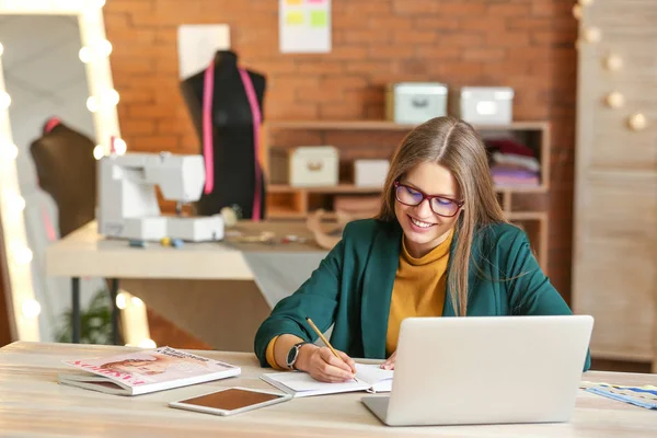
[[[397,124],[388,120],[287,120],[267,122],[269,129],[345,129],[345,130],[411,130],[417,124]],[[512,122],[508,125],[473,125],[477,130],[542,130],[548,122]]]

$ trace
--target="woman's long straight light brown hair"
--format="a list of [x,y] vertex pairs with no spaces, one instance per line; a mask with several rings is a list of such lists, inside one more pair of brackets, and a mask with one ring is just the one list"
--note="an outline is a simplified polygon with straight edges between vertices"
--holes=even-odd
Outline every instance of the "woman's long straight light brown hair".
[[465,316],[468,268],[474,231],[479,227],[507,220],[497,201],[482,138],[471,125],[449,116],[431,118],[417,126],[395,150],[383,187],[378,219],[396,220],[394,182],[423,162],[439,163],[447,168],[457,180],[461,200],[464,201],[454,224],[458,241],[453,260],[449,264],[448,289],[454,312]]

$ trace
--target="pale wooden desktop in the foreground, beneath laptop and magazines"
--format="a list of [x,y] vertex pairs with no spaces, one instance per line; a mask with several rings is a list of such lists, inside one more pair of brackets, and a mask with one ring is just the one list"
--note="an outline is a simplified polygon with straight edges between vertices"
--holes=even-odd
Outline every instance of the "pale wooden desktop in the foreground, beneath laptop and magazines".
[[[580,392],[565,424],[404,427],[383,426],[360,403],[365,393],[296,399],[233,417],[166,407],[166,403],[212,389],[272,389],[260,380],[255,357],[245,353],[196,351],[242,367],[239,378],[124,397],[57,383],[65,358],[113,355],[125,347],[14,343],[0,348],[0,430],[9,436],[231,436],[231,437],[648,437],[657,436],[657,413]],[[540,377],[537,377],[540,378]],[[585,380],[657,384],[657,374],[588,372]]]

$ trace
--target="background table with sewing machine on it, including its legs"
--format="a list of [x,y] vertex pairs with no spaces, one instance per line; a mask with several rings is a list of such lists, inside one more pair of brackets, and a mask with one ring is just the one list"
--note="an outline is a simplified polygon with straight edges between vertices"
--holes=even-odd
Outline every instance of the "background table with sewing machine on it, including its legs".
[[242,221],[227,231],[295,234],[308,243],[237,243],[228,237],[221,242],[185,243],[180,249],[158,242],[136,249],[127,240],[100,235],[92,221],[48,246],[46,274],[72,279],[73,342],[80,333],[79,279],[89,276],[112,279],[113,301],[120,279],[123,289],[216,349],[252,351],[255,330],[270,307],[254,283],[244,253],[326,252],[314,245],[303,221]]

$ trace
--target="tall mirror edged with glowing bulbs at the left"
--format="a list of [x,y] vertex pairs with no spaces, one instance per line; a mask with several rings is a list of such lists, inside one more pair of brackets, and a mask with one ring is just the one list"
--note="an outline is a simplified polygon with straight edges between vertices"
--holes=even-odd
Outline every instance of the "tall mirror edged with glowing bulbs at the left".
[[[45,249],[87,220],[95,160],[125,152],[104,3],[0,0],[0,298],[14,341],[56,341],[71,286],[45,275]],[[84,281],[83,306],[105,288]]]

